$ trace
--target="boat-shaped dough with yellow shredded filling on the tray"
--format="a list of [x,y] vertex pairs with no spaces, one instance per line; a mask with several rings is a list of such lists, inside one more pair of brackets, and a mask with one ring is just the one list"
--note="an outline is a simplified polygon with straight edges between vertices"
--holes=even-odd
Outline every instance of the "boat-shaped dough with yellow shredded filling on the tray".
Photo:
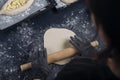
[[34,0],[8,0],[2,7],[0,14],[17,15],[28,9]]

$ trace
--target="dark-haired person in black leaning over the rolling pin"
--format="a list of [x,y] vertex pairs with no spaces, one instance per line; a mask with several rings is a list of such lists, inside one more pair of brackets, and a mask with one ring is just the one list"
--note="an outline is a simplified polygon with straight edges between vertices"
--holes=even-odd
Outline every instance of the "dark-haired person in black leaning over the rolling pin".
[[[81,55],[73,59],[63,68],[55,80],[120,79],[120,5],[118,1],[87,0],[93,23],[98,28],[98,33],[108,48],[97,53],[97,57],[94,58]],[[71,38],[71,43],[81,51],[79,37]]]

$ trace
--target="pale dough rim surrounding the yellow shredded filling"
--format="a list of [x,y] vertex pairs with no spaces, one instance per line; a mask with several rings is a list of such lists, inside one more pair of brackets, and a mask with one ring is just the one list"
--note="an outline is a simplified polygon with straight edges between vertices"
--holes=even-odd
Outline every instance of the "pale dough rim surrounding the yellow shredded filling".
[[[17,15],[23,11],[25,11],[26,9],[28,9],[32,3],[34,2],[34,0],[28,0],[26,4],[24,4],[23,6],[20,6],[19,8],[13,9],[11,11],[8,11],[6,8],[8,6],[8,4],[10,4],[12,1],[15,0],[8,0],[5,5],[2,7],[2,9],[0,10],[0,14],[5,14],[5,15]],[[21,0],[22,1],[22,0]],[[24,1],[24,0],[23,0]]]

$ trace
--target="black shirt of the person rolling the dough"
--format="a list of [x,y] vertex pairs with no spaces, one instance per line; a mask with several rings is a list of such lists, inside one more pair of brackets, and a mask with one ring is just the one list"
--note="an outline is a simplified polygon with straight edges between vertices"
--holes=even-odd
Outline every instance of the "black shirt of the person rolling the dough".
[[119,80],[110,69],[92,59],[77,57],[71,60],[55,80]]

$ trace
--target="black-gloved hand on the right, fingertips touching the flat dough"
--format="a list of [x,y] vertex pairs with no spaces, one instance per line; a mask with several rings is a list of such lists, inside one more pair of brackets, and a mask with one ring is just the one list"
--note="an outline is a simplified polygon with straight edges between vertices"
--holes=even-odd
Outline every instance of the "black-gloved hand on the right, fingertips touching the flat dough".
[[83,42],[80,37],[71,37],[70,43],[81,53],[83,57],[95,58],[97,50],[90,42]]

